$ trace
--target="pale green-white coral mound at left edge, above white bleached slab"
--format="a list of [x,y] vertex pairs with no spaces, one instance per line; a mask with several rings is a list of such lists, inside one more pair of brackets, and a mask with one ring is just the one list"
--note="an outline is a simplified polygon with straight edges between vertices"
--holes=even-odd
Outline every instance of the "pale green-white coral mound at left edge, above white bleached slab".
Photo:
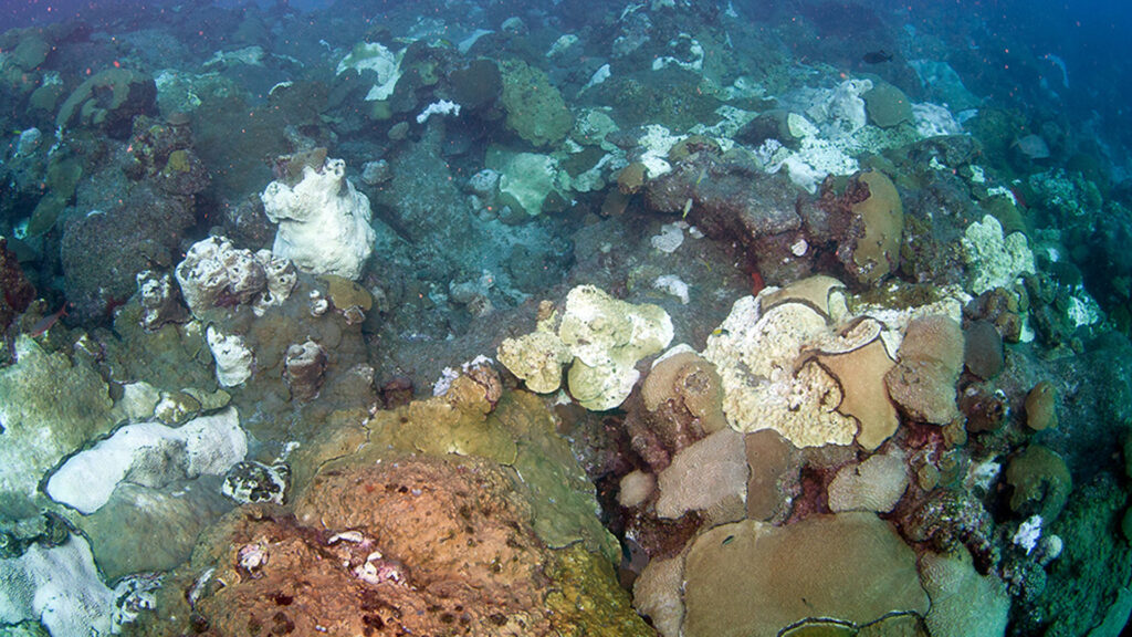
[[113,401],[97,372],[27,336],[16,364],[0,370],[0,495],[36,496],[40,478],[113,425]]

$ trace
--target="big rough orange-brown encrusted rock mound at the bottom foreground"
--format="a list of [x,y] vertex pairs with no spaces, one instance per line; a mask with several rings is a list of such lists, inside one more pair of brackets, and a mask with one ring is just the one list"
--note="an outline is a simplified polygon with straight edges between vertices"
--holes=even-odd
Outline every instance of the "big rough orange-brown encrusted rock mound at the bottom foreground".
[[293,516],[249,504],[214,525],[142,632],[650,634],[604,557],[539,540],[504,467],[385,453],[324,465]]

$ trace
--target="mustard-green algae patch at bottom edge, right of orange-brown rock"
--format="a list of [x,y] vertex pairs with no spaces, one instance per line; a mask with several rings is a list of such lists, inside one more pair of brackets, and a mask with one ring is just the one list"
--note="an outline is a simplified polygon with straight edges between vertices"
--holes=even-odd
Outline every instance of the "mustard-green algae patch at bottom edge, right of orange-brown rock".
[[633,610],[628,594],[616,585],[612,564],[580,544],[555,551],[547,575],[555,580],[547,595],[557,635],[651,637],[655,631]]

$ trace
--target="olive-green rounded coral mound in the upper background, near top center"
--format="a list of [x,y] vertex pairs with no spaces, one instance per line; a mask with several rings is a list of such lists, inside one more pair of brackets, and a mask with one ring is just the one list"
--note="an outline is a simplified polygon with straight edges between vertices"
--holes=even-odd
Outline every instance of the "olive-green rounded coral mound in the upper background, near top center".
[[574,126],[574,116],[547,74],[520,60],[499,67],[507,128],[534,146],[561,142]]

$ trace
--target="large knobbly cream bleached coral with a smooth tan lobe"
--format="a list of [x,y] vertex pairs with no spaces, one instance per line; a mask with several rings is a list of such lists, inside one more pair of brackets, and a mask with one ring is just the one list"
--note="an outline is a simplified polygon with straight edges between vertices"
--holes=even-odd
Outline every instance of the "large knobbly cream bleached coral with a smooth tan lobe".
[[[835,279],[812,277],[735,303],[703,353],[719,372],[723,413],[732,428],[773,430],[796,447],[856,440],[867,450],[895,432],[900,401],[891,393],[893,343],[899,346],[907,331],[915,349],[923,340],[924,314],[958,313],[958,301],[949,297],[923,307],[851,312],[851,300]],[[940,316],[927,323],[947,321]],[[954,339],[942,340],[949,343],[941,356],[950,374]],[[958,342],[961,347],[962,339]],[[947,380],[953,390],[950,375],[937,384],[947,385]],[[951,404],[954,409],[953,391]]]

